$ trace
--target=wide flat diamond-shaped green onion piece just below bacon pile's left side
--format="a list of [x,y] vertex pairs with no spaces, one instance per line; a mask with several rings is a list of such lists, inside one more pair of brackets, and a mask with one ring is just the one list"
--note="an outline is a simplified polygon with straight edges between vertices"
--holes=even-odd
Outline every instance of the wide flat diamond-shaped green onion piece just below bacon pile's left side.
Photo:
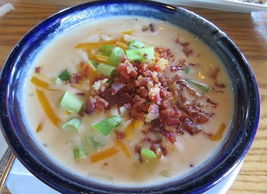
[[93,125],[93,128],[99,130],[104,135],[108,135],[112,129],[116,128],[117,125],[121,123],[121,121],[119,116],[112,116]]

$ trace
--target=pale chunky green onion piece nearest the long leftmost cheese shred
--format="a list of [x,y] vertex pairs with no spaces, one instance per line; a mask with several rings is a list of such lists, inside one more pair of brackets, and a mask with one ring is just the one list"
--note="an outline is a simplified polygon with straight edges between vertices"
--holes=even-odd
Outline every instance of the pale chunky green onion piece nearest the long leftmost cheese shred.
[[83,106],[83,101],[81,101],[78,97],[74,96],[70,92],[66,92],[60,102],[60,106],[66,108],[69,111],[79,113],[81,107]]

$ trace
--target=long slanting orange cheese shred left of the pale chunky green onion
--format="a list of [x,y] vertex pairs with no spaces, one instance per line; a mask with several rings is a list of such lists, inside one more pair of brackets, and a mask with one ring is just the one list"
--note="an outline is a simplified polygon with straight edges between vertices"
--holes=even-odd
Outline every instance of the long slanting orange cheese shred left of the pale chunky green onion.
[[44,91],[42,90],[36,90],[37,93],[37,97],[39,99],[40,104],[42,105],[46,115],[48,116],[48,118],[50,119],[50,121],[56,126],[59,127],[60,124],[60,119],[57,117],[57,115],[54,113],[50,102],[48,101]]

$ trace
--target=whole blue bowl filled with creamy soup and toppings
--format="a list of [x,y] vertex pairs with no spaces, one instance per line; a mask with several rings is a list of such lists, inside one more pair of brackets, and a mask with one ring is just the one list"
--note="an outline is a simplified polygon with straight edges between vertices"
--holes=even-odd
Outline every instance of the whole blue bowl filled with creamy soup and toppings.
[[94,1],[35,26],[0,80],[3,134],[61,193],[202,193],[243,160],[259,94],[216,26],[153,1]]

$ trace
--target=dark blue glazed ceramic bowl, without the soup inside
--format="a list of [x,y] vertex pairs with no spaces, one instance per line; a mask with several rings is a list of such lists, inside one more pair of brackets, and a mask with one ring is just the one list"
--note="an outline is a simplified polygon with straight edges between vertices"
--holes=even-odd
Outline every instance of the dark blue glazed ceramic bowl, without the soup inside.
[[[217,156],[194,174],[145,188],[119,188],[84,180],[53,163],[35,144],[25,124],[23,91],[36,50],[44,41],[79,23],[112,16],[145,16],[168,21],[195,33],[223,62],[234,89],[231,134]],[[145,0],[107,0],[61,11],[35,26],[16,45],[0,79],[0,121],[17,159],[37,178],[66,193],[202,193],[225,178],[242,161],[254,139],[260,114],[257,84],[245,57],[216,26],[183,8]]]

